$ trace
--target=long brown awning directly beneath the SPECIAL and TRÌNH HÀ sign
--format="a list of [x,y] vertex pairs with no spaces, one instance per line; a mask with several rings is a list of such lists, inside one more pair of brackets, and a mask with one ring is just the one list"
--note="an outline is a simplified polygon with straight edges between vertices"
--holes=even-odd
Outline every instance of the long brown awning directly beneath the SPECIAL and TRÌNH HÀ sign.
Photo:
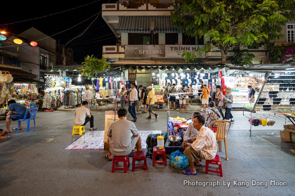
[[[206,63],[205,63],[206,61]],[[167,58],[167,59],[119,59],[111,64],[111,68],[121,66],[123,70],[200,70],[200,69],[216,69],[224,68],[223,65],[210,62],[207,59],[203,59],[202,63],[190,63],[186,62],[183,58]]]

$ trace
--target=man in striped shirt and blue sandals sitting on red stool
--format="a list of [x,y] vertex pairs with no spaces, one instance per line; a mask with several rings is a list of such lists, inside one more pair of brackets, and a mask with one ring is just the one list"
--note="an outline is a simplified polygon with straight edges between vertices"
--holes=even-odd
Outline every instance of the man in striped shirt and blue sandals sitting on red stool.
[[213,131],[208,127],[204,127],[205,118],[201,115],[195,115],[193,125],[197,129],[198,137],[191,143],[185,143],[188,147],[184,151],[184,155],[188,157],[190,162],[190,168],[183,170],[186,175],[197,175],[198,172],[195,169],[195,165],[202,166],[199,163],[199,159],[212,160],[215,158],[217,152],[216,136]]

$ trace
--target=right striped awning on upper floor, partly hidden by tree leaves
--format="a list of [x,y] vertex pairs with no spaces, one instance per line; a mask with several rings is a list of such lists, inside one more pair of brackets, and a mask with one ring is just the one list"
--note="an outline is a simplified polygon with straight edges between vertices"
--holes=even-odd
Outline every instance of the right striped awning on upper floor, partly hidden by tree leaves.
[[155,33],[183,33],[173,26],[170,16],[154,16]]

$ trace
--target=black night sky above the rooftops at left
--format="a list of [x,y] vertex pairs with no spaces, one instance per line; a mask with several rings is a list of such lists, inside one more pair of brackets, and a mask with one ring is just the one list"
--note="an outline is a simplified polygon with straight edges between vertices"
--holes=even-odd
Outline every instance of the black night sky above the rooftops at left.
[[116,44],[115,35],[99,14],[101,4],[107,2],[116,1],[5,1],[1,3],[0,30],[17,35],[35,27],[56,41],[60,39],[60,44],[66,44],[88,28],[66,47],[73,49],[77,62],[92,54],[101,58],[103,45]]

